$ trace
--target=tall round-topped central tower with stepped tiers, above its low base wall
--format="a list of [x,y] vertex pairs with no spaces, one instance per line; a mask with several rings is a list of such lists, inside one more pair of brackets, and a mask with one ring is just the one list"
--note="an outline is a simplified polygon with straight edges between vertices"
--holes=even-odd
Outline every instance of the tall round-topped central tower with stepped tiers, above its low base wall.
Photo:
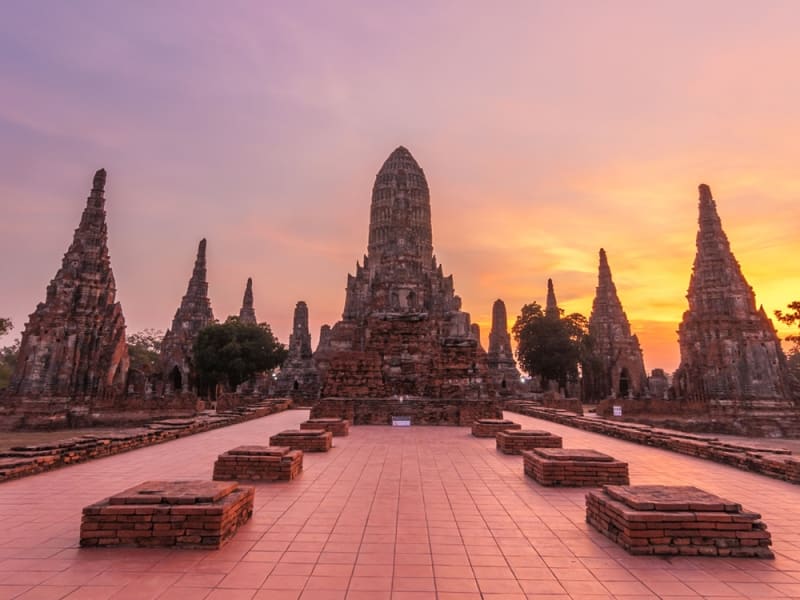
[[433,255],[428,182],[402,146],[375,178],[363,263],[315,355],[323,396],[493,396],[486,353]]

